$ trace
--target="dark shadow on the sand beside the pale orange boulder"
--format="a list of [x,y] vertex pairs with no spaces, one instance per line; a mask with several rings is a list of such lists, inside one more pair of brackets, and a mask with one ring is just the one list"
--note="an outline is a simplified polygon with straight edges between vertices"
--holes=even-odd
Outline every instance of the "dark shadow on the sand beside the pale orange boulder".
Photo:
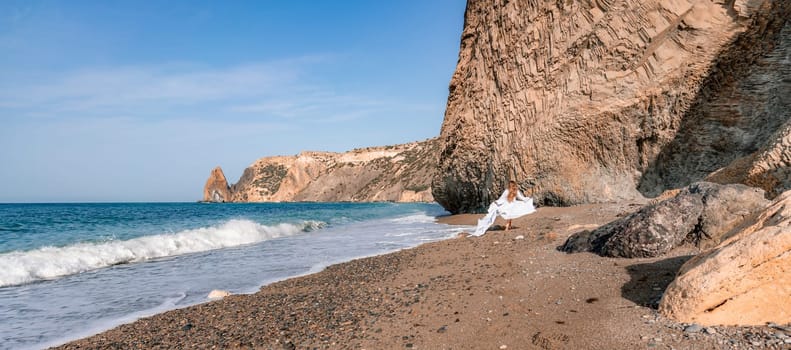
[[681,265],[694,255],[676,256],[626,267],[630,280],[621,287],[621,296],[640,306],[657,309],[667,286],[676,278]]

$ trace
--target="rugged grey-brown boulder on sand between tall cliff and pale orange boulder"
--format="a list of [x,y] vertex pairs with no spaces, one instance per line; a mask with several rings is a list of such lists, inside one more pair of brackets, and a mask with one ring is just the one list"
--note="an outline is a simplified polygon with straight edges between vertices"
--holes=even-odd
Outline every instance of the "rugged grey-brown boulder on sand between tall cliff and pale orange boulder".
[[576,233],[561,250],[638,258],[663,255],[684,242],[707,249],[767,204],[761,189],[698,182],[594,231]]

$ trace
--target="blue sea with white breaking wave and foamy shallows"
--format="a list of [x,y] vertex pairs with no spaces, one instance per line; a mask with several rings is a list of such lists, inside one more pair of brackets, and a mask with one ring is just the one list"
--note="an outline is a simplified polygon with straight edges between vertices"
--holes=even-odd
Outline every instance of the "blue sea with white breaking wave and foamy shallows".
[[214,289],[454,237],[427,203],[0,204],[0,349],[40,349]]

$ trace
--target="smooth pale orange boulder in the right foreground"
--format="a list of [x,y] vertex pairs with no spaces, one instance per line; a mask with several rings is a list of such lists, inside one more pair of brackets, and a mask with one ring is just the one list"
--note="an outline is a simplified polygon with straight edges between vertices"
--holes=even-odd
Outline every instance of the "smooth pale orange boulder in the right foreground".
[[702,325],[791,322],[791,191],[681,267],[659,311]]

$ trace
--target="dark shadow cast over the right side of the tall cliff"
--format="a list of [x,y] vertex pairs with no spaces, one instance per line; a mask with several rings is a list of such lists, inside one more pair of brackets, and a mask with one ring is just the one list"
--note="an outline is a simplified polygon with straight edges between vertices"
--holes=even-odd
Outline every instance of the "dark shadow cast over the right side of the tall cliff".
[[[703,74],[688,100],[689,107],[684,108],[684,99],[668,101],[671,110],[683,112],[674,138],[644,164],[637,185],[644,196],[655,197],[664,190],[703,180],[755,153],[791,117],[791,102],[785,98],[791,83],[780,78],[767,82],[765,78],[782,77],[791,70],[784,63],[791,51],[791,26],[786,24],[791,5],[775,2],[762,12],[715,55],[717,63]],[[652,107],[649,115],[657,112]],[[656,141],[652,137],[637,140],[638,150],[650,149]]]

